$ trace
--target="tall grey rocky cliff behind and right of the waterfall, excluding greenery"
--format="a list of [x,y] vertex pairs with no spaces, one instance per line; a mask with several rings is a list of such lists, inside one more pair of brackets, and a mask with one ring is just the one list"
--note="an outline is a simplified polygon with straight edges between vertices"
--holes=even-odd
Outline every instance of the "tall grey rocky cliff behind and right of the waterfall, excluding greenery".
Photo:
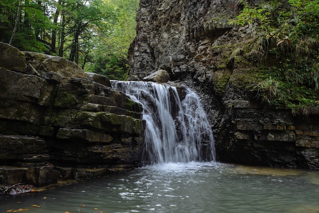
[[237,0],[141,0],[129,78],[166,70],[171,81],[193,87],[210,117],[220,161],[318,169],[318,109],[303,117],[267,108],[252,91],[256,66],[245,56],[253,26],[227,22],[242,7]]

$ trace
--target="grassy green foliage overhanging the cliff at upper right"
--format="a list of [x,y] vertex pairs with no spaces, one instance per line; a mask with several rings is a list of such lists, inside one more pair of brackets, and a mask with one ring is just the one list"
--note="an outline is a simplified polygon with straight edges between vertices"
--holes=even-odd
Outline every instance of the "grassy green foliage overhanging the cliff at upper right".
[[[244,9],[230,24],[256,32],[246,58],[268,77],[254,88],[261,101],[307,114],[319,99],[319,0],[272,0]],[[264,72],[264,71],[262,71]]]

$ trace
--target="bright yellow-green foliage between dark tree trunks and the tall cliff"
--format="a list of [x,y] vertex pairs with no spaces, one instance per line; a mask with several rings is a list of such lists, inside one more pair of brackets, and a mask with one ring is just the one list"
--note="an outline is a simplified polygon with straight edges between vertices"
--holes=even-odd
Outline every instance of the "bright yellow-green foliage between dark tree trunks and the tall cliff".
[[107,0],[105,3],[113,8],[116,18],[113,19],[112,31],[99,32],[100,40],[96,42],[99,45],[91,52],[92,60],[85,68],[110,79],[126,80],[129,70],[127,52],[136,36],[135,16],[139,1]]

